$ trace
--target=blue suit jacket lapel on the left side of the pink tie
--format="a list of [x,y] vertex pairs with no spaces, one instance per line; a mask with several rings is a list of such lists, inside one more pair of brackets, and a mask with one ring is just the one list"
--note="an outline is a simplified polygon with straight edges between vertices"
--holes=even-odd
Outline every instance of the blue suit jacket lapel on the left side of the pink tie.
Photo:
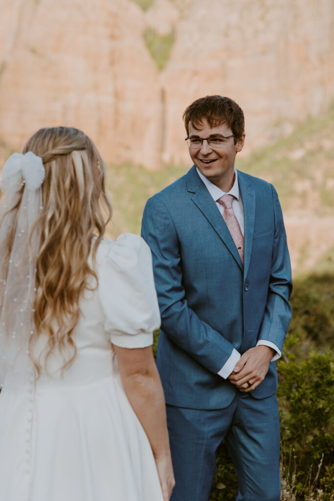
[[235,261],[238,263],[240,268],[243,269],[239,253],[235,246],[231,233],[229,232],[229,229],[226,226],[226,223],[222,218],[212,196],[198,176],[195,166],[193,166],[187,174],[187,189],[190,193],[193,193],[191,196],[192,201],[204,214],[206,219],[209,221],[213,229],[216,231],[218,236],[222,239],[222,241],[234,257]]

